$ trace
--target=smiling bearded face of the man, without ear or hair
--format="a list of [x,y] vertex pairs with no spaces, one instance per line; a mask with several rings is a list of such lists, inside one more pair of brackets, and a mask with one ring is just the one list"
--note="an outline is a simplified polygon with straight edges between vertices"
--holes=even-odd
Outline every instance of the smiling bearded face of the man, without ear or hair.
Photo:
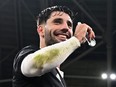
[[70,16],[64,12],[53,12],[45,24],[45,43],[52,45],[66,41],[73,35]]

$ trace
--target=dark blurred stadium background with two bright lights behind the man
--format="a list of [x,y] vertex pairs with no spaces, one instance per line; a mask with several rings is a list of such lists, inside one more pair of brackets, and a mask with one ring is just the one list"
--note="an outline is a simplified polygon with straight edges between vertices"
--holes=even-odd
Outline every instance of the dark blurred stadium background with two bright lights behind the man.
[[96,46],[83,44],[62,64],[67,86],[116,87],[116,0],[0,0],[0,87],[12,87],[16,53],[39,46],[36,17],[52,5],[68,6],[74,26],[87,23],[96,34]]

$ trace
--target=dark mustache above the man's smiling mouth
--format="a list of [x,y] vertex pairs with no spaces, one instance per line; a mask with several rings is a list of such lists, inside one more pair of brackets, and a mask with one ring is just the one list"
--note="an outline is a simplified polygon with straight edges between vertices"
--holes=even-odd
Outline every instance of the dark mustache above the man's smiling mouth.
[[54,34],[55,36],[64,35],[64,36],[66,36],[67,38],[71,38],[71,33],[68,31],[68,29],[56,30],[56,31],[54,31],[53,34]]

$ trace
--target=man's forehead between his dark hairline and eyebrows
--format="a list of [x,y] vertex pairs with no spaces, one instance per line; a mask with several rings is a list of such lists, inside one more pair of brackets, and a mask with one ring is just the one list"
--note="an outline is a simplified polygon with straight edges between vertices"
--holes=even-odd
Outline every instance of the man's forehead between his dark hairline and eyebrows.
[[55,18],[62,18],[63,20],[68,20],[68,21],[72,22],[71,17],[68,14],[66,14],[65,12],[62,12],[62,11],[52,12],[49,19],[55,19]]

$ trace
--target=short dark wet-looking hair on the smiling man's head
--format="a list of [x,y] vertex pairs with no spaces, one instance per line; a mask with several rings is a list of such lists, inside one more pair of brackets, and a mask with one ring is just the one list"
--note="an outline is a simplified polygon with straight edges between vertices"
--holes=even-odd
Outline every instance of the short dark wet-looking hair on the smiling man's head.
[[66,6],[52,6],[52,7],[46,8],[40,12],[40,14],[38,15],[38,18],[37,18],[37,24],[45,23],[47,21],[47,19],[49,19],[51,13],[54,11],[65,12],[66,14],[68,14],[71,17],[71,19],[73,19],[73,16],[74,16],[73,12],[68,7],[66,7]]

